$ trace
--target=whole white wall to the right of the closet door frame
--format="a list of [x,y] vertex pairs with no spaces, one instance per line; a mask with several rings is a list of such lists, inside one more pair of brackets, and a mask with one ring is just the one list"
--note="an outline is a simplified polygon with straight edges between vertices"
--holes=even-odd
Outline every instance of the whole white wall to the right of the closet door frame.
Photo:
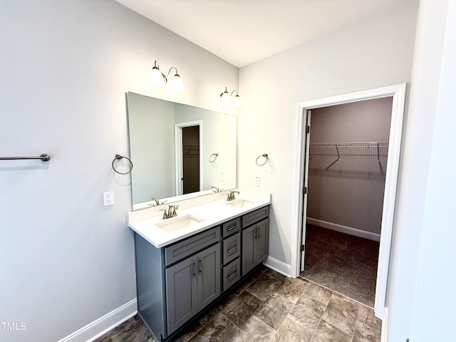
[[455,1],[420,1],[390,264],[388,341],[454,337],[455,24]]

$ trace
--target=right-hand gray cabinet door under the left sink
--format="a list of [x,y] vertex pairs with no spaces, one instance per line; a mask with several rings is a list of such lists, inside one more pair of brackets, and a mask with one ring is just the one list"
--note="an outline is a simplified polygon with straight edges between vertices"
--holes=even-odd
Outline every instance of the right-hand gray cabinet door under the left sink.
[[220,295],[220,244],[197,254],[198,311]]

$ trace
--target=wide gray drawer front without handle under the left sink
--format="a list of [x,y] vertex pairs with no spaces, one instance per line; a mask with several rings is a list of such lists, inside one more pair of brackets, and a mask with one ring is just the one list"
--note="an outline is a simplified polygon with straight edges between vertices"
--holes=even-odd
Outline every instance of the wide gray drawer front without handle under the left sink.
[[189,237],[184,241],[177,242],[170,247],[165,247],[165,265],[170,265],[189,255],[198,252],[204,247],[218,242],[220,239],[220,227],[211,228],[205,232]]

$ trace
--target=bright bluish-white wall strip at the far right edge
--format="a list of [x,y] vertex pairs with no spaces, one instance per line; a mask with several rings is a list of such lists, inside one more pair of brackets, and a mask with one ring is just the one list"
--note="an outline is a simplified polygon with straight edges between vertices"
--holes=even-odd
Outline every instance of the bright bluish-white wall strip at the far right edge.
[[[423,6],[433,6],[433,1]],[[413,301],[410,341],[416,342],[445,341],[455,336],[456,158],[449,157],[453,150],[450,137],[456,127],[455,61],[456,1],[449,1]],[[417,87],[426,85],[420,83]],[[415,100],[417,105],[421,101]]]

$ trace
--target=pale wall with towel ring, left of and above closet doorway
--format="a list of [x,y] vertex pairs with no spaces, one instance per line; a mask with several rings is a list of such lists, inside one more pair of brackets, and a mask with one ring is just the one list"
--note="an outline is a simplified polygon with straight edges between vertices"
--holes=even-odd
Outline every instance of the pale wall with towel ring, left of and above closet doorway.
[[[297,103],[410,82],[417,6],[401,1],[240,70],[239,186],[253,188],[259,175],[259,190],[272,194],[270,257],[291,264]],[[269,163],[258,167],[263,153]]]

